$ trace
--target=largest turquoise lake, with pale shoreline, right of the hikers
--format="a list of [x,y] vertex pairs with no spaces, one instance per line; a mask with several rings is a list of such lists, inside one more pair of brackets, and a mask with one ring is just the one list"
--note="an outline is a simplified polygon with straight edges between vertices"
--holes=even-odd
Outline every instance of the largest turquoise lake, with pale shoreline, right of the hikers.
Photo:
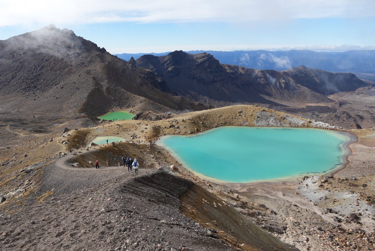
[[157,144],[197,174],[245,183],[343,167],[354,137],[312,128],[220,127],[193,136],[164,136]]

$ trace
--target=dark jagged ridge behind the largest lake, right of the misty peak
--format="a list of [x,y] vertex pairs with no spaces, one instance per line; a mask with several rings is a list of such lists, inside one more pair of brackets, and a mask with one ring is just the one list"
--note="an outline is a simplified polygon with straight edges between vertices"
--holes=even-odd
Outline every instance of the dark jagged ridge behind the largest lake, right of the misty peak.
[[287,71],[254,70],[220,64],[207,53],[174,51],[166,56],[144,55],[136,65],[152,70],[173,91],[208,104],[263,103],[282,101],[319,103],[326,95],[368,86],[350,73],[329,73],[306,67]]

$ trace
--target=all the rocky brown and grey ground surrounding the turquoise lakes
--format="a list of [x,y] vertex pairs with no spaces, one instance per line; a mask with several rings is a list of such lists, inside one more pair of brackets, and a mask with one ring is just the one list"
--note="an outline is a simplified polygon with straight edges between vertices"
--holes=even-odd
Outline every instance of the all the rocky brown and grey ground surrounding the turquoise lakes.
[[[257,106],[172,116],[63,134],[12,131],[24,140],[0,148],[4,250],[375,249],[374,129],[351,131],[359,139],[333,177],[224,186],[187,171],[154,140],[227,125],[343,129]],[[87,147],[98,135],[127,142]],[[142,163],[139,177],[118,166],[124,153]]]

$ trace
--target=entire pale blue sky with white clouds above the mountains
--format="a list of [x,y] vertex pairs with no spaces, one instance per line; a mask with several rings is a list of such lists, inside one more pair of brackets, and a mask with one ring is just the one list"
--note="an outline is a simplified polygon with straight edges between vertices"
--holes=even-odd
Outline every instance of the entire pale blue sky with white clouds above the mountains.
[[0,39],[54,23],[110,53],[375,49],[374,0],[29,2],[0,2]]

